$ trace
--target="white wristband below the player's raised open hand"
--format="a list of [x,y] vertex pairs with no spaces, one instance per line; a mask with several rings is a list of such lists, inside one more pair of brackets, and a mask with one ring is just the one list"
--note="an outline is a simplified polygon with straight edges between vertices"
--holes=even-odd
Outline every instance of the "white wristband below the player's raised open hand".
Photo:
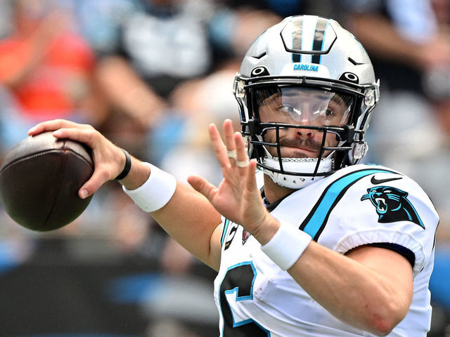
[[282,270],[288,270],[300,258],[311,242],[309,234],[290,223],[281,222],[281,226],[261,250]]

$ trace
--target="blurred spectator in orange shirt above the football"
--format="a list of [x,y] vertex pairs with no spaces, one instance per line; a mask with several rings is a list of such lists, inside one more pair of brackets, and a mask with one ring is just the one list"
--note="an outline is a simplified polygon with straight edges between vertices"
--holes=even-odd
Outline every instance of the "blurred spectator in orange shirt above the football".
[[[95,58],[72,17],[51,0],[18,0],[12,32],[0,41],[4,147],[22,140],[36,121],[69,118],[96,124],[91,73]],[[9,97],[8,97],[9,96]]]

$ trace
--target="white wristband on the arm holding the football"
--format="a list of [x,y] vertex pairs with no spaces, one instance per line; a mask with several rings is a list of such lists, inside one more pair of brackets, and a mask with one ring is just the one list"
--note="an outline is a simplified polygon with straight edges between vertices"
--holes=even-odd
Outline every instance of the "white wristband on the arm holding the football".
[[143,211],[158,211],[174,195],[176,179],[172,174],[162,171],[152,164],[144,164],[150,167],[151,170],[147,181],[136,188],[136,190],[128,190],[124,186],[122,188]]

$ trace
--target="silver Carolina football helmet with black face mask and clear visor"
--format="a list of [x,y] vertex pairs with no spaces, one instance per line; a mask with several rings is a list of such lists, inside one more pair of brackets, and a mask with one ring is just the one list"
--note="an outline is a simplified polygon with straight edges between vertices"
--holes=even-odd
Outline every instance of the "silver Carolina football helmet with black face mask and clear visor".
[[[285,18],[255,40],[233,85],[250,159],[290,188],[357,164],[368,150],[365,134],[380,97],[378,83],[364,47],[338,22]],[[334,117],[335,107],[342,118]],[[285,143],[283,133],[294,129],[319,134],[320,141]],[[288,147],[307,150],[295,154]]]

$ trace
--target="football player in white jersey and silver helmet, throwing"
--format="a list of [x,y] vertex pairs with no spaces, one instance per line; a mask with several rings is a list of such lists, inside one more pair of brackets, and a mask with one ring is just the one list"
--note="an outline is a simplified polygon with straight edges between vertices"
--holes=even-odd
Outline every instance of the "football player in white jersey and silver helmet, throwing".
[[439,218],[410,178],[359,164],[380,98],[371,60],[338,22],[285,18],[250,47],[233,93],[242,129],[210,139],[224,179],[189,185],[91,126],[54,131],[94,153],[84,198],[117,179],[143,211],[217,270],[224,337],[426,336]]

